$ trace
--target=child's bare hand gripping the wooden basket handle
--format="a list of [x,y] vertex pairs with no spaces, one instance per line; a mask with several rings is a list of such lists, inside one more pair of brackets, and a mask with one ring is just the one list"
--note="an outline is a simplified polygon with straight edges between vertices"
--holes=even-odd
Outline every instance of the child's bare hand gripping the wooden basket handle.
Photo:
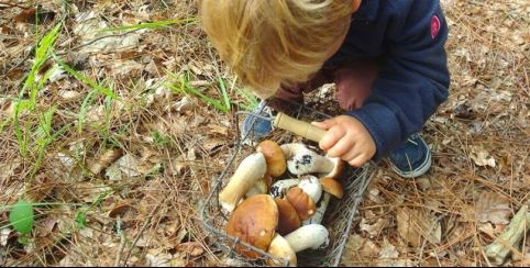
[[313,125],[328,130],[319,145],[330,157],[340,157],[354,167],[361,167],[374,157],[374,138],[355,118],[339,115]]

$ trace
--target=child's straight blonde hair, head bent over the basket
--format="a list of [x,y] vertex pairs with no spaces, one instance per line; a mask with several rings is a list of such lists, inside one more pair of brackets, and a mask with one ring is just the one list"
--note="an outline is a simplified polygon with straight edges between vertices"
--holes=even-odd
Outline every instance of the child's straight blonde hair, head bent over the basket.
[[352,0],[201,0],[212,45],[262,98],[317,72],[350,25]]

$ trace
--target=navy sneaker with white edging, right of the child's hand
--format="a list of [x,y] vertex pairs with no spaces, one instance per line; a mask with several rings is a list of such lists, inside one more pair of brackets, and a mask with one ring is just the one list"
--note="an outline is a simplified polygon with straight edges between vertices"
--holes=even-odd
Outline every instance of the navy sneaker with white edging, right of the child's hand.
[[406,143],[388,156],[391,169],[404,178],[421,176],[431,167],[431,150],[419,134],[412,134]]

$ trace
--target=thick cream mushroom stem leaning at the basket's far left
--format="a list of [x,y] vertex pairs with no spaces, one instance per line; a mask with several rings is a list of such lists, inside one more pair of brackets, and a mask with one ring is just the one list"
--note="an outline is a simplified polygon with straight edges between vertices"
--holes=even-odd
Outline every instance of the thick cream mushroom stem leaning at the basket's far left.
[[229,183],[219,193],[221,206],[232,212],[241,198],[265,175],[267,164],[262,153],[254,153],[241,161]]

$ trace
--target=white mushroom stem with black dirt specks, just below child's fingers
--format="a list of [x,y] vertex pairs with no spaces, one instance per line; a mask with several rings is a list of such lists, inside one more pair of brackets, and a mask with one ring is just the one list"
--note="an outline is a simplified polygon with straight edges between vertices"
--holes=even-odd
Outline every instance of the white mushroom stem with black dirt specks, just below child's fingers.
[[294,175],[329,174],[335,166],[331,159],[301,143],[284,144],[280,147],[287,158],[287,169]]

